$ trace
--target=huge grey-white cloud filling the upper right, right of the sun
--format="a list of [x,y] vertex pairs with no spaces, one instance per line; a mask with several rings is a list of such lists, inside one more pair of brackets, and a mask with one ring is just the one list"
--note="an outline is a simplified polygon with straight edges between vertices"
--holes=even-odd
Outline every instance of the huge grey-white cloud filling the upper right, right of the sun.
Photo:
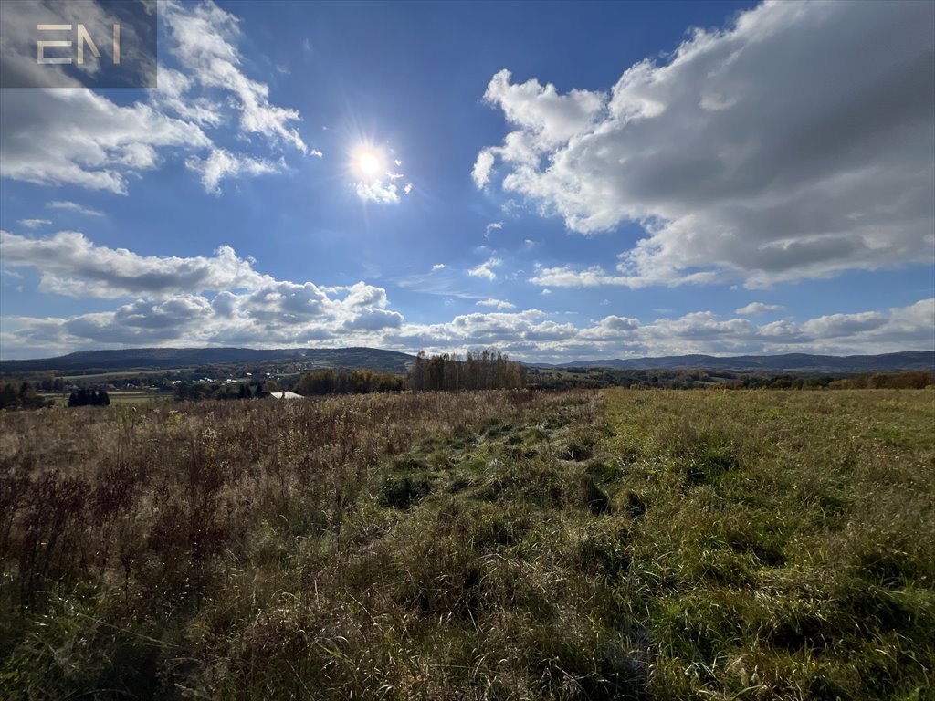
[[930,261],[933,23],[930,3],[766,3],[609,92],[501,71],[484,99],[511,131],[474,180],[499,164],[505,191],[573,232],[642,225],[614,273],[540,273],[565,284],[760,287]]

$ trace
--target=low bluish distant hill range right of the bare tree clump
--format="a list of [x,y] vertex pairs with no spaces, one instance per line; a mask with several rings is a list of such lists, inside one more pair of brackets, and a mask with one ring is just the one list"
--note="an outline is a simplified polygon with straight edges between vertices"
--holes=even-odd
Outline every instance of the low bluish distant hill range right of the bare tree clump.
[[897,370],[935,370],[935,350],[884,353],[882,355],[670,355],[660,358],[627,360],[582,360],[561,365],[536,364],[535,367],[612,367],[619,370],[733,370],[768,373],[851,373],[893,372]]

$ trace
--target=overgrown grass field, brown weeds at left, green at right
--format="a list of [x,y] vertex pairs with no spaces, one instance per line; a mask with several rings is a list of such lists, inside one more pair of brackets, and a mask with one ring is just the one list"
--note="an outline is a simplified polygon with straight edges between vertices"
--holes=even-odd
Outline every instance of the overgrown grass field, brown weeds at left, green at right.
[[935,393],[0,413],[0,697],[928,699]]

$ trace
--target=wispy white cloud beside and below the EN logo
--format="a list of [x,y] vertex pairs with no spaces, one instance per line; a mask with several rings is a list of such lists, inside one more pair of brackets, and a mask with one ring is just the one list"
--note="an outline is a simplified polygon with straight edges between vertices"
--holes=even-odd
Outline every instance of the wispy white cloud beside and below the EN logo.
[[0,176],[125,194],[130,179],[182,154],[217,192],[223,177],[283,163],[223,150],[209,132],[233,131],[253,149],[265,141],[309,153],[295,128],[298,112],[273,104],[266,83],[243,72],[234,15],[213,2],[165,2],[159,17],[166,55],[181,70],[162,66],[160,87],[145,101],[120,105],[87,89],[23,90],[0,100]]

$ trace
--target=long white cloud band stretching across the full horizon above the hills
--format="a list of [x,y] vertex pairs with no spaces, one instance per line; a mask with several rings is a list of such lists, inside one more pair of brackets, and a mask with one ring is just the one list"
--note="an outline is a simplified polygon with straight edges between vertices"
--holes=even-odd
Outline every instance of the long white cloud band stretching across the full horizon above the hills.
[[[120,345],[249,345],[454,351],[496,346],[530,360],[573,360],[683,353],[864,353],[930,349],[935,299],[903,308],[756,324],[711,311],[639,319],[608,315],[590,326],[555,322],[539,309],[506,311],[510,302],[451,322],[406,323],[386,291],[364,281],[324,287],[277,280],[222,247],[213,257],[140,256],[97,246],[81,234],[32,239],[0,233],[4,265],[35,269],[40,290],[130,298],[117,308],[67,318],[2,320],[8,357]],[[5,271],[5,274],[16,271]]]

